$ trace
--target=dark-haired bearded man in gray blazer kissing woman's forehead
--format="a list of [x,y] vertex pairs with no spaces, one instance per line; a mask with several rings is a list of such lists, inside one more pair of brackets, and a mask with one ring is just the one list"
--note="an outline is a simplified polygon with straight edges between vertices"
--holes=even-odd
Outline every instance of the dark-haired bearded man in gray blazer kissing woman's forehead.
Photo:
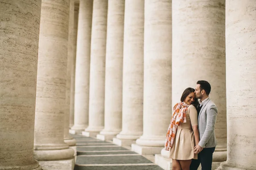
[[212,154],[217,145],[214,126],[218,113],[216,105],[209,99],[211,85],[200,80],[195,88],[195,97],[200,99],[198,106],[198,130],[200,141],[195,146],[194,152],[198,153],[198,159],[192,159],[190,170],[197,170],[200,163],[202,170],[212,170]]

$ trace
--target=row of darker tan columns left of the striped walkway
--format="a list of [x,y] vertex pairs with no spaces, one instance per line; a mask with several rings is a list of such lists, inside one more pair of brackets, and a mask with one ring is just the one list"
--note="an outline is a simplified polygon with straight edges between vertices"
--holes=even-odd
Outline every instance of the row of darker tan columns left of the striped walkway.
[[72,170],[74,0],[0,4],[0,169]]

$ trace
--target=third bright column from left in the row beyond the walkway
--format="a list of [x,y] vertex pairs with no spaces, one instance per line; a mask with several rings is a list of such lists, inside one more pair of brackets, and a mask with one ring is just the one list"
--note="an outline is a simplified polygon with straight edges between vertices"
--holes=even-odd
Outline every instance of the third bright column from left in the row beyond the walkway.
[[122,66],[125,0],[108,0],[104,129],[97,135],[112,140],[122,130]]

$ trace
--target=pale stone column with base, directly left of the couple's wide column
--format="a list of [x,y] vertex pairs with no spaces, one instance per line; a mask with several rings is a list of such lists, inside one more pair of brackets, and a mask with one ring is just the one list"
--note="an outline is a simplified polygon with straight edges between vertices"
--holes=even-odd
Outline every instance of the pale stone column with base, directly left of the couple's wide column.
[[172,0],[145,0],[143,136],[140,154],[160,153],[172,113]]

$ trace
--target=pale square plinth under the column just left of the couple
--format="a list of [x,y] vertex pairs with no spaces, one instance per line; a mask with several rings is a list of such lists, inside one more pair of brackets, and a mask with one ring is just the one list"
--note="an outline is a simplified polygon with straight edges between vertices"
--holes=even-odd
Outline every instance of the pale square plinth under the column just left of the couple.
[[138,144],[131,144],[131,150],[140,155],[154,155],[161,153],[163,147],[140,146]]

